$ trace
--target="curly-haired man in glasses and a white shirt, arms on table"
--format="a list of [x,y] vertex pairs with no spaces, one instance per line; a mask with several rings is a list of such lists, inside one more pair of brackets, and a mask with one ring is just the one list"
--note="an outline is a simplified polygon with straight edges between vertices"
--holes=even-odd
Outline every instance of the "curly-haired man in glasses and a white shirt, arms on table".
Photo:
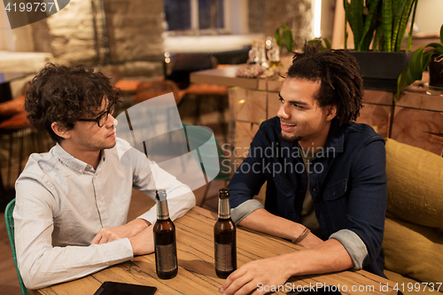
[[155,199],[167,190],[176,219],[195,206],[190,188],[146,159],[120,163],[127,142],[115,136],[119,101],[104,74],[49,64],[27,90],[28,120],[57,144],[32,154],[16,182],[15,241],[29,289],[87,276],[134,255],[154,251],[152,207],[127,223],[132,189]]

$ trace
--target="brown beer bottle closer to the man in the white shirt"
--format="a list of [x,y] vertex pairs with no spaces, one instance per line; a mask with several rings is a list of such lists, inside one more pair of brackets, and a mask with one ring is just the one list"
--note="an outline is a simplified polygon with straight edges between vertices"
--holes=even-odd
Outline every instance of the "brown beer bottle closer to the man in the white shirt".
[[175,226],[169,218],[166,190],[157,190],[157,221],[154,224],[155,269],[161,279],[177,276]]

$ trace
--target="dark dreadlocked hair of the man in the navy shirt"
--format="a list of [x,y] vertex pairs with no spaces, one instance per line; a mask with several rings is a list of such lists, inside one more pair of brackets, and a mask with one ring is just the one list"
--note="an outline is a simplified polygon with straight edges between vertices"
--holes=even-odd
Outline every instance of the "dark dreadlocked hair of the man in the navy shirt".
[[305,43],[303,53],[294,52],[287,77],[320,81],[315,96],[319,105],[337,105],[340,124],[357,120],[363,106],[363,81],[355,58],[345,50],[319,51],[319,45]]

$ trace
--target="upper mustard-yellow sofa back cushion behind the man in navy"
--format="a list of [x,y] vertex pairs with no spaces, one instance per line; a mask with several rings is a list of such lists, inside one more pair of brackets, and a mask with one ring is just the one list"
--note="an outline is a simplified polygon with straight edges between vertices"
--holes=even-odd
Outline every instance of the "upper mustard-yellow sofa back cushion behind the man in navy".
[[387,211],[443,229],[443,158],[386,139]]

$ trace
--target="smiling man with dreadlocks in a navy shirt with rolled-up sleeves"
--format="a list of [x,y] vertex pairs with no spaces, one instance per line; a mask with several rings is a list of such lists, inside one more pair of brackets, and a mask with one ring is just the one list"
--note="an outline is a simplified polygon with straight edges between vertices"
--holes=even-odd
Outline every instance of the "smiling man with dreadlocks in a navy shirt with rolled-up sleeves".
[[[352,122],[362,95],[359,68],[345,51],[305,45],[295,54],[277,116],[260,125],[229,182],[229,201],[241,226],[306,249],[245,264],[223,294],[263,294],[291,276],[348,268],[384,276],[385,141]],[[265,182],[263,207],[253,196]]]

